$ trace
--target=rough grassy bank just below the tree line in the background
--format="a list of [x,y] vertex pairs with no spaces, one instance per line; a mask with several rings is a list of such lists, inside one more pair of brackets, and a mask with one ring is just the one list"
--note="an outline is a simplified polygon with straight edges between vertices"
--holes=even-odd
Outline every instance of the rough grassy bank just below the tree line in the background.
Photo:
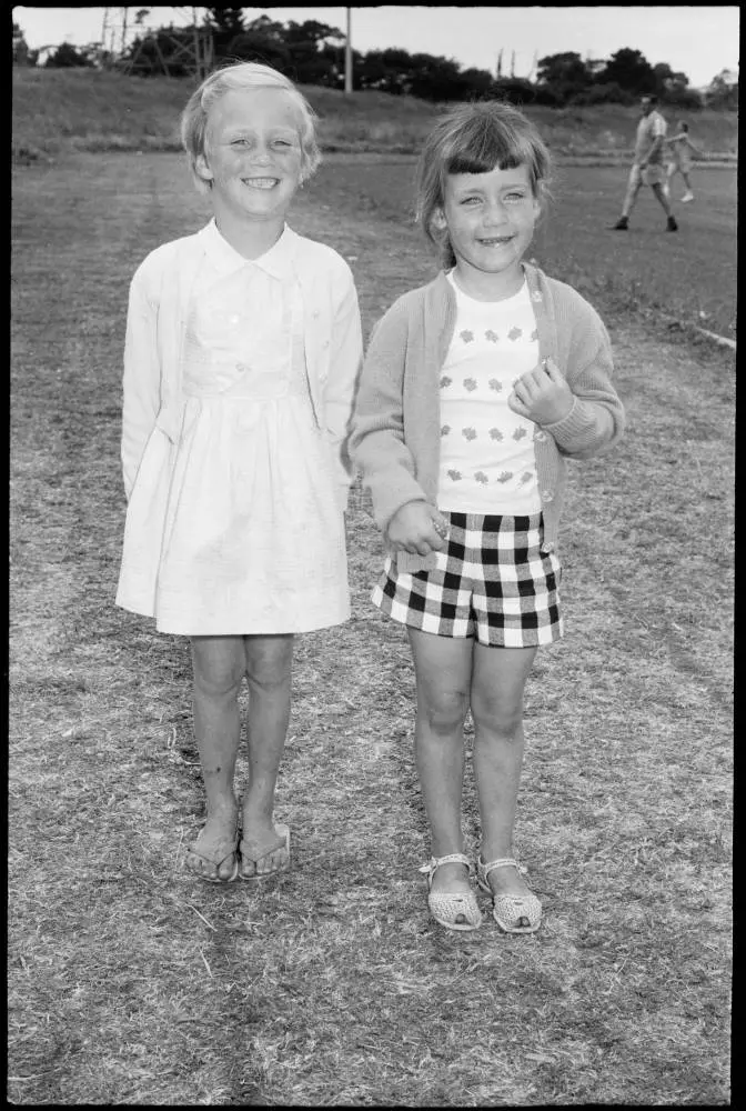
[[[188,79],[131,78],[99,70],[13,67],[13,152],[38,158],[73,150],[178,150],[178,121],[193,88]],[[303,92],[320,117],[324,150],[416,152],[444,106],[412,97],[319,86]],[[627,159],[636,109],[528,107],[552,149],[565,158]],[[677,112],[667,113],[671,119]],[[708,158],[734,160],[736,112],[692,113],[695,141]]]

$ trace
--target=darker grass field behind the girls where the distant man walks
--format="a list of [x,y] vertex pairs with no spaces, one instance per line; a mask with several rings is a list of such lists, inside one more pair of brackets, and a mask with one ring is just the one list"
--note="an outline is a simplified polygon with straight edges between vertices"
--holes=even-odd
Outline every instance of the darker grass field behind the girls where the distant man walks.
[[[372,167],[374,169],[372,169]],[[329,156],[312,183],[313,196],[336,211],[414,222],[415,159],[406,156]],[[693,171],[697,199],[674,202],[679,231],[665,230],[665,214],[651,190],[641,192],[628,232],[611,231],[626,186],[616,167],[561,164],[553,199],[533,254],[551,274],[571,282],[609,311],[638,311],[668,327],[698,324],[736,338],[736,171]],[[681,196],[676,192],[675,197]]]

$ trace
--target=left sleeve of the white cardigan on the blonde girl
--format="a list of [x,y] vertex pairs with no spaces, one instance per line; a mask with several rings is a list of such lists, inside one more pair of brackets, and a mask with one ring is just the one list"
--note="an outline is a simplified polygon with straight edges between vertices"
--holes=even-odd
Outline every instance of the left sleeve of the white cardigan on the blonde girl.
[[130,284],[124,339],[121,458],[128,501],[148,438],[155,426],[161,393],[158,307],[148,294],[143,266],[135,271]]

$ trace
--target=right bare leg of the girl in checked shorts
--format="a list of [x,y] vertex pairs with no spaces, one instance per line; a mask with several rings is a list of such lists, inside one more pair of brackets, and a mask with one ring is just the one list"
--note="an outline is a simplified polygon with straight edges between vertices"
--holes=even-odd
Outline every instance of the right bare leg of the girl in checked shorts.
[[[471,704],[484,863],[513,855],[524,750],[523,692],[535,655],[535,648],[474,649]],[[495,869],[488,882],[496,894],[528,890],[514,868]]]

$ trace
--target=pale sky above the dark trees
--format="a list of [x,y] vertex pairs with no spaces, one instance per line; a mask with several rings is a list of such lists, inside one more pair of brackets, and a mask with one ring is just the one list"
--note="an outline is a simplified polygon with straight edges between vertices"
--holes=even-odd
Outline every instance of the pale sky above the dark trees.
[[[140,6],[128,8],[132,26]],[[199,11],[200,9],[198,9]],[[104,8],[14,7],[13,19],[32,49],[68,41],[84,46],[101,40]],[[122,24],[122,8],[109,8]],[[184,26],[191,8],[151,8],[145,27]],[[345,29],[345,8],[244,8],[249,22],[259,16],[286,23],[314,19]],[[639,50],[655,66],[667,62],[683,71],[693,88],[709,84],[724,69],[738,70],[739,7],[472,7],[389,4],[352,8],[352,44],[365,53],[401,47],[410,53],[440,54],[464,68],[494,73],[503,51],[503,73],[515,52],[516,77],[532,77],[536,59],[575,51],[585,59],[606,59],[624,47]]]

